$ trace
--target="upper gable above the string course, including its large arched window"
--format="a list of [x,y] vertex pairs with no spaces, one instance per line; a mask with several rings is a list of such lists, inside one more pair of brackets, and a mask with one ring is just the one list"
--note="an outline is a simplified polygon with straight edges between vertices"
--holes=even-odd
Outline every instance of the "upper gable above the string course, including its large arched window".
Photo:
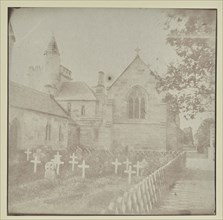
[[166,106],[156,91],[156,79],[139,55],[108,89],[115,122],[164,122]]

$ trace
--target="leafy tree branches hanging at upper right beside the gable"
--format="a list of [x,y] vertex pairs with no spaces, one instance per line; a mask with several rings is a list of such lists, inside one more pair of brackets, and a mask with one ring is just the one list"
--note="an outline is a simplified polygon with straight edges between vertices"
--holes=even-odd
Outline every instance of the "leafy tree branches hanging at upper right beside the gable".
[[174,112],[193,119],[213,104],[215,82],[214,10],[168,11],[164,27],[167,44],[178,56],[168,64],[164,76],[155,73],[158,92],[166,92],[166,101]]

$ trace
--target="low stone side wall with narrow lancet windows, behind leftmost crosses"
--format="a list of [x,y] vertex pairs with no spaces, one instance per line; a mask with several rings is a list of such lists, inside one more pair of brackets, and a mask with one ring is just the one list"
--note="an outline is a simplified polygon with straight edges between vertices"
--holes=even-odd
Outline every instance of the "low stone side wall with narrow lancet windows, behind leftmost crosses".
[[[10,125],[18,121],[18,149],[49,146],[52,149],[66,149],[68,144],[68,120],[40,112],[10,108]],[[46,140],[46,125],[51,125],[51,138]],[[59,140],[59,128],[61,138]],[[10,134],[9,134],[10,137]]]

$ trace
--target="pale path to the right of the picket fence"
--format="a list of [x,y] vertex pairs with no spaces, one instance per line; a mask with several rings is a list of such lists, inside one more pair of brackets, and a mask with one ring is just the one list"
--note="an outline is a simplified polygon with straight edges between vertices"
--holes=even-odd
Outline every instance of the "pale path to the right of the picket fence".
[[206,158],[187,158],[186,169],[153,214],[214,214],[214,163]]

